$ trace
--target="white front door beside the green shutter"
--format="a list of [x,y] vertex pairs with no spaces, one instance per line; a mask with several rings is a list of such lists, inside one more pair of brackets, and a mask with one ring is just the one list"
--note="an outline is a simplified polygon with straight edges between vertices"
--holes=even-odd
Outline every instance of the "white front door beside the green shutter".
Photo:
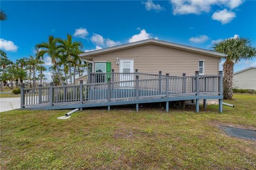
[[[129,81],[129,80],[133,80],[133,60],[120,60],[120,81]],[[129,84],[133,85],[133,83]],[[122,86],[124,86],[124,84],[122,83]]]

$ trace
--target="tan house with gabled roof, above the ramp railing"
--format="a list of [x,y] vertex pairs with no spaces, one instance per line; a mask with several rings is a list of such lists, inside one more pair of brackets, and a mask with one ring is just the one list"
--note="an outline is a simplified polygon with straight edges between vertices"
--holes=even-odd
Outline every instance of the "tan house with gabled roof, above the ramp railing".
[[220,58],[218,53],[202,48],[175,44],[157,39],[146,39],[101,50],[80,54],[81,59],[88,61],[91,72],[129,73],[138,69],[149,74],[169,73],[171,76],[217,75]]

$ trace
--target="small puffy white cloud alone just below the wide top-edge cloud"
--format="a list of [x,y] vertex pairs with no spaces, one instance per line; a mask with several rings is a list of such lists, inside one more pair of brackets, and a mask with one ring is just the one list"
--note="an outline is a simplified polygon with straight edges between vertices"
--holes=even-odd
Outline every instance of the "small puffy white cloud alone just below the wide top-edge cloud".
[[212,14],[212,19],[220,21],[222,24],[228,23],[236,17],[234,12],[228,11],[227,9],[216,11]]

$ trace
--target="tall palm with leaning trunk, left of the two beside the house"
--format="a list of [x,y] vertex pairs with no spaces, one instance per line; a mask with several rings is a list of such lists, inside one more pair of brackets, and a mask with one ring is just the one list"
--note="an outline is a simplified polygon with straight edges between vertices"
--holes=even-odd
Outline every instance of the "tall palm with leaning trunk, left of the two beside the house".
[[61,85],[63,85],[60,69],[58,66],[59,65],[58,60],[59,60],[59,55],[61,51],[60,51],[60,46],[58,45],[57,39],[55,39],[53,36],[49,36],[48,42],[37,44],[36,49],[38,51],[37,52],[38,59],[41,59],[41,58],[43,59],[45,54],[49,54],[51,56],[52,63],[54,64],[58,72],[60,83]]

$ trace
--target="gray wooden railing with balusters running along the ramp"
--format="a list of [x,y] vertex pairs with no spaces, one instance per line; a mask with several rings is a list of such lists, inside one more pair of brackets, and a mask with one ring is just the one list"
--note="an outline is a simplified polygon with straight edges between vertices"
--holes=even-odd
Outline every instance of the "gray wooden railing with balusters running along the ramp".
[[[143,98],[169,98],[172,95],[200,95],[200,94],[219,94],[222,95],[222,71],[219,75],[205,76],[199,75],[196,71],[195,76],[171,77],[169,74],[162,76],[159,74],[154,78],[141,79],[138,74],[135,79],[112,81],[108,78],[107,82],[79,85],[50,86],[35,88],[24,88],[21,86],[21,108],[36,104],[49,104],[54,106],[56,103],[87,101],[108,101],[115,102],[118,99],[140,100]],[[147,75],[149,76],[149,75]],[[150,75],[152,76],[152,75]],[[144,77],[145,78],[145,77]]]

